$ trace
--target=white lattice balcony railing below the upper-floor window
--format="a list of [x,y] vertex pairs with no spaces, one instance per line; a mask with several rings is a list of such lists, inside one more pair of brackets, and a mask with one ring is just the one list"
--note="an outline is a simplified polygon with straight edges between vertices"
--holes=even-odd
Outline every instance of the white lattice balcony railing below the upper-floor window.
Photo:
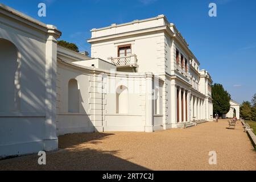
[[130,55],[124,57],[109,57],[108,58],[112,64],[117,67],[138,67],[137,65],[137,56]]

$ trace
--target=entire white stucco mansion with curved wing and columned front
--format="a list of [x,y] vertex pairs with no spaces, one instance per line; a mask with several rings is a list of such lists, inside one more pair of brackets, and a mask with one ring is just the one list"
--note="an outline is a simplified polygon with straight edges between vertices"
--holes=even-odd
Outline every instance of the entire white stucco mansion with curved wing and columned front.
[[0,158],[58,148],[59,135],[167,130],[213,115],[212,78],[164,15],[92,29],[91,57],[0,4]]

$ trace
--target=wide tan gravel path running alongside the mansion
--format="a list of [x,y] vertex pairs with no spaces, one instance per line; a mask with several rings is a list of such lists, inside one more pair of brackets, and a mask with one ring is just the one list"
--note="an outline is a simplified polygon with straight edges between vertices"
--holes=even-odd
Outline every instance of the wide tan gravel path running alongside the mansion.
[[[241,122],[226,129],[226,119],[188,129],[155,133],[112,132],[59,137],[60,150],[0,161],[0,170],[256,170],[256,152]],[[209,165],[209,151],[217,165]]]

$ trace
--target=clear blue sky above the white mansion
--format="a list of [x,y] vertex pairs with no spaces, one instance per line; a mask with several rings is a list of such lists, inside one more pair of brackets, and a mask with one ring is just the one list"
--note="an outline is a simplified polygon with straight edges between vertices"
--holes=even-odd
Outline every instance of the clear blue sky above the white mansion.
[[[61,39],[90,51],[86,39],[92,28],[125,23],[164,14],[175,23],[189,47],[214,82],[224,85],[237,102],[256,93],[255,0],[2,0],[24,14],[61,30]],[[45,2],[47,16],[38,17],[38,3]],[[217,17],[208,16],[210,2]]]

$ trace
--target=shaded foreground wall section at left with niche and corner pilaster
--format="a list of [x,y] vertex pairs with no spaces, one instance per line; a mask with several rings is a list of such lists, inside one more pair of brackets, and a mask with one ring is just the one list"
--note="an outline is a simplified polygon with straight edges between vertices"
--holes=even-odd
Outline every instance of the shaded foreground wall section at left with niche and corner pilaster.
[[3,5],[0,22],[0,82],[5,88],[0,91],[0,158],[56,150],[55,66],[60,32]]

